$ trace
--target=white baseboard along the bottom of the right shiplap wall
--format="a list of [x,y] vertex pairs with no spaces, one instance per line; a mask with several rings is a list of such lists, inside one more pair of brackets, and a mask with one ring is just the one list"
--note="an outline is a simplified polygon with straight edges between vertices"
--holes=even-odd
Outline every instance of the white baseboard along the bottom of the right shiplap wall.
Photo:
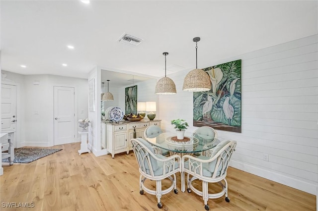
[[265,170],[262,168],[258,168],[253,165],[249,165],[238,160],[231,160],[231,167],[237,168],[242,171],[246,171],[248,173],[263,177],[265,179],[272,180],[274,182],[281,183],[283,185],[287,185],[292,188],[296,188],[298,190],[316,195],[317,194],[317,185],[313,185],[312,183],[304,182],[295,178],[291,178],[279,173],[275,173],[273,171]]

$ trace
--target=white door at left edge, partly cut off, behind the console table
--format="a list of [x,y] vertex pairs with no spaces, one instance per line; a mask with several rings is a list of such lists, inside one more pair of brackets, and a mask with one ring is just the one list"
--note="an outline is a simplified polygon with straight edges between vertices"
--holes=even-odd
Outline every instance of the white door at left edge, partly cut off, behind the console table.
[[[16,121],[16,86],[1,84],[1,131],[16,132]],[[16,148],[15,137],[11,141]]]

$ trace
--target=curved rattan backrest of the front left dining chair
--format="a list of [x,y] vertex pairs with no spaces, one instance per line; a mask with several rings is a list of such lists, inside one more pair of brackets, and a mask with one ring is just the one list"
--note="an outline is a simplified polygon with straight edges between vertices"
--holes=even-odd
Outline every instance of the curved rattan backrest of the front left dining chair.
[[158,169],[158,162],[154,158],[154,149],[151,144],[141,138],[130,140],[137,159],[139,170],[144,174],[154,176],[154,171]]

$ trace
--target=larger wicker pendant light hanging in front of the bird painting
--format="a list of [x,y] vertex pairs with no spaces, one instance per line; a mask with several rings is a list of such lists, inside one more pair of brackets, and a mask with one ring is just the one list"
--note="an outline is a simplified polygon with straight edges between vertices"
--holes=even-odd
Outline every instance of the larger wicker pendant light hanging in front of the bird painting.
[[211,89],[211,82],[209,75],[202,69],[198,69],[198,42],[199,37],[193,38],[193,42],[196,43],[196,69],[191,70],[183,80],[183,91],[187,92],[206,92]]

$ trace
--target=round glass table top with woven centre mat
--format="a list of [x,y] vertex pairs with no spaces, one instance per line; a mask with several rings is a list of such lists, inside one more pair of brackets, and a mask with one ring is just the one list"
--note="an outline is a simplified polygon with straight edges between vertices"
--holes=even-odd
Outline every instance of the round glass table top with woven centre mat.
[[202,139],[185,136],[183,140],[176,140],[175,133],[161,133],[155,138],[146,140],[161,149],[175,153],[198,153],[214,148],[220,141],[218,139]]

